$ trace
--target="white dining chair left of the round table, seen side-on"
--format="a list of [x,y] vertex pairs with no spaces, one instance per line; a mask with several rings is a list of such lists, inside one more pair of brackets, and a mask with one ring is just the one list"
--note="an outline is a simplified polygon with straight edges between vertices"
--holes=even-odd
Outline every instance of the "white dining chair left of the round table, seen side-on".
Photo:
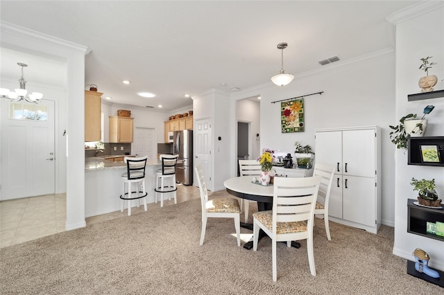
[[203,175],[202,165],[196,165],[197,182],[200,191],[200,203],[202,205],[202,231],[200,233],[200,246],[205,239],[205,230],[207,229],[207,219],[233,218],[234,228],[236,229],[237,246],[241,246],[241,208],[239,202],[234,198],[216,198],[208,200],[207,184]]

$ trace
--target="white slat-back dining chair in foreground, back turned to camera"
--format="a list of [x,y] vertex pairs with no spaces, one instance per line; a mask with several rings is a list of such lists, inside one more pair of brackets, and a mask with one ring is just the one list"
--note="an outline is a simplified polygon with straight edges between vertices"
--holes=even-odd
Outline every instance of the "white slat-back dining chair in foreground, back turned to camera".
[[262,229],[271,238],[273,281],[278,280],[276,242],[287,242],[287,247],[291,247],[293,240],[307,240],[310,273],[316,276],[313,222],[319,184],[320,176],[277,177],[273,184],[273,210],[253,213],[253,251],[257,251],[259,230]]

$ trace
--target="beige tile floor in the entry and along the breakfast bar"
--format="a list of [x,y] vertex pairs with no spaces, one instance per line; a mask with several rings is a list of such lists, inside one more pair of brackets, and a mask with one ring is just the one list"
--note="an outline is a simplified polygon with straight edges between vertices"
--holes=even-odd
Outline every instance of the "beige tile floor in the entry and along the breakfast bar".
[[[199,188],[195,186],[178,185],[178,203],[200,197]],[[164,200],[164,206],[171,206],[174,200]],[[149,208],[160,207],[148,204]],[[132,214],[144,212],[144,206],[133,208]],[[93,224],[127,216],[127,211],[115,211],[108,214],[88,217],[86,223]],[[0,248],[19,244],[29,240],[42,238],[46,235],[65,231],[66,195],[43,195],[26,197],[0,202]]]

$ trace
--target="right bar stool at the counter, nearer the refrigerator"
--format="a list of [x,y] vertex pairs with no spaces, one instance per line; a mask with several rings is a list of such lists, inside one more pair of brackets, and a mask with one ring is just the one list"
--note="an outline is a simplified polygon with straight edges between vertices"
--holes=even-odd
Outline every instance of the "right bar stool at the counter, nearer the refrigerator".
[[157,203],[157,196],[160,194],[160,206],[164,206],[164,194],[168,194],[168,199],[171,200],[171,193],[174,195],[174,204],[178,203],[176,196],[176,164],[178,163],[178,154],[161,154],[162,168],[155,172],[155,202]]

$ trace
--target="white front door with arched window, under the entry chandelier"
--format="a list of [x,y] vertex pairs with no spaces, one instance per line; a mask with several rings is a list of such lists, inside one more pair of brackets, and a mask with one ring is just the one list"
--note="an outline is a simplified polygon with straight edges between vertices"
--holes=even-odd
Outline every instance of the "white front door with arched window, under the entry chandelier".
[[54,102],[1,99],[1,200],[55,193]]

